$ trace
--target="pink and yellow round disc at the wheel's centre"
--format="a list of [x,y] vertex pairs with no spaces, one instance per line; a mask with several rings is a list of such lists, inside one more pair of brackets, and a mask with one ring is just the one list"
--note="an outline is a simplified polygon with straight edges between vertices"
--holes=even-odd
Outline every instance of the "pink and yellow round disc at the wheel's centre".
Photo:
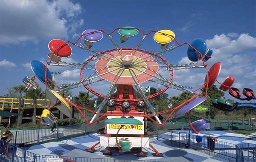
[[[101,78],[115,84],[136,85],[135,80],[143,83],[155,77],[159,65],[153,54],[129,48],[120,51],[106,52],[95,63],[97,74]],[[114,80],[115,78],[117,79]]]

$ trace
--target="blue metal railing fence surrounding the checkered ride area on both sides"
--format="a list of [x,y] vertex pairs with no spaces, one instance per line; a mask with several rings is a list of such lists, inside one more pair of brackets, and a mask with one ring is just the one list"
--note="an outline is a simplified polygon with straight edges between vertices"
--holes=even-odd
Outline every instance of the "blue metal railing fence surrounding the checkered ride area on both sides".
[[[80,123],[76,125],[69,125],[58,127],[55,135],[49,136],[49,129],[38,128],[25,131],[13,132],[14,139],[7,147],[7,143],[3,145],[1,142],[0,150],[3,156],[0,156],[1,162],[25,162],[24,158],[31,158],[32,162],[45,162],[48,158],[59,158],[60,156],[36,155],[29,151],[22,150],[22,157],[17,155],[17,147],[28,145],[37,145],[44,142],[60,141],[70,139],[77,136],[84,136],[90,133],[96,133],[100,129],[104,129],[104,122],[97,122],[94,125],[87,125]],[[155,140],[162,140],[166,145],[175,146],[178,148],[192,148],[197,151],[207,153],[209,155],[218,156],[229,161],[242,162],[244,159],[248,161],[256,161],[256,145],[244,143],[239,145],[230,144],[227,142],[217,141],[209,137],[202,137],[198,141],[197,136],[193,134],[183,133],[179,131],[169,131],[163,128],[151,128],[148,131],[148,136]],[[7,156],[5,156],[7,155]],[[65,162],[112,162],[109,159],[95,159],[95,158],[77,158],[77,157],[61,157]],[[26,159],[25,159],[26,160]],[[115,162],[126,162],[125,160],[116,160]],[[114,162],[113,161],[113,162]],[[131,162],[131,161],[127,161]],[[132,161],[137,162],[137,161]]]

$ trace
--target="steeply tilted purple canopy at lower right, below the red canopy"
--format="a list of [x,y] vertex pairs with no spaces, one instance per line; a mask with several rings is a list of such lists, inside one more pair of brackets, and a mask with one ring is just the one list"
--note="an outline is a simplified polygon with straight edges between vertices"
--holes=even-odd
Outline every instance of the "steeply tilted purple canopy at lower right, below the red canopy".
[[206,100],[205,97],[198,97],[197,99],[193,100],[192,102],[189,102],[187,105],[180,108],[179,111],[177,111],[175,118],[180,117],[181,115],[185,114],[186,112],[192,110],[197,105],[201,104]]

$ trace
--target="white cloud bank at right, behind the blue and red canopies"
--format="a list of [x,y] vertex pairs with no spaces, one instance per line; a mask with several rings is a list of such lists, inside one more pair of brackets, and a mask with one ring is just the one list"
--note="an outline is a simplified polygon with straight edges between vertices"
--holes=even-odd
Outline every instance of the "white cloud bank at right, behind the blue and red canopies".
[[[242,88],[256,87],[256,37],[249,34],[229,33],[215,35],[206,42],[207,47],[213,50],[212,58],[207,61],[209,68],[214,63],[221,62],[221,72],[218,77],[220,82],[227,76],[231,76],[235,78],[232,87],[239,88],[240,91]],[[189,60],[183,57],[179,63],[189,63]],[[197,77],[199,84],[203,81],[204,75],[193,70],[189,71],[189,75],[186,71],[180,71],[176,79],[178,79],[177,83],[186,83],[186,80],[189,80],[189,83],[196,85]],[[215,84],[219,86],[218,83]]]

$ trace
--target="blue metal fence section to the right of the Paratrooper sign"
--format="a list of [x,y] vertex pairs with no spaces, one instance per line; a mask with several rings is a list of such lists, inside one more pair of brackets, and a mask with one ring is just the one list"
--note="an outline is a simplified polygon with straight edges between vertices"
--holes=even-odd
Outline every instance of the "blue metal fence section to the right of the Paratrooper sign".
[[[154,134],[157,132],[157,134]],[[233,162],[247,161],[256,162],[256,145],[251,143],[243,143],[239,145],[215,141],[212,137],[202,137],[201,141],[197,141],[196,135],[187,134],[179,131],[166,131],[159,129],[151,132],[148,136],[154,137],[156,140],[162,140],[166,145],[175,147],[192,148],[209,155],[217,156]]]

